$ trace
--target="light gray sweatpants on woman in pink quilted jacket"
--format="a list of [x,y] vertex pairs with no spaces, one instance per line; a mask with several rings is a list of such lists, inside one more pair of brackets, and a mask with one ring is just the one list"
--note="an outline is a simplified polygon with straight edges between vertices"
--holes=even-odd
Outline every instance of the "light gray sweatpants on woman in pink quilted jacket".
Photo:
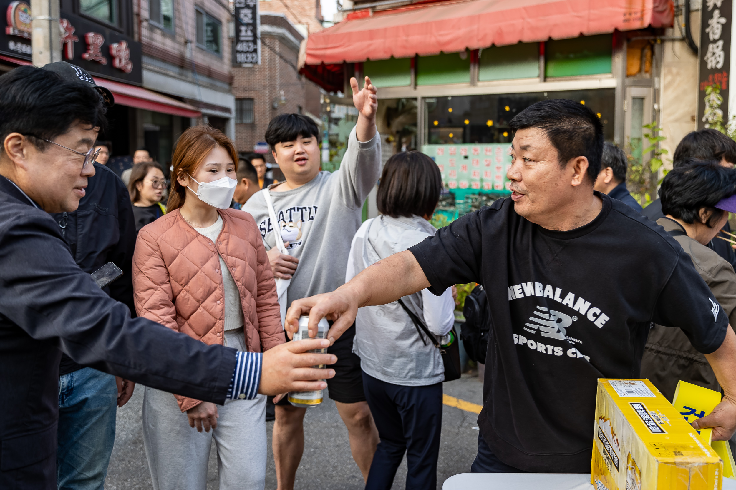
[[[226,339],[230,332],[226,332]],[[240,331],[242,335],[242,330]],[[230,340],[230,339],[227,339]],[[228,342],[231,347],[234,342]],[[221,490],[263,490],[266,485],[266,396],[217,406],[217,428],[189,427],[174,395],[146,386],[143,440],[154,490],[205,490],[210,445],[217,445]]]

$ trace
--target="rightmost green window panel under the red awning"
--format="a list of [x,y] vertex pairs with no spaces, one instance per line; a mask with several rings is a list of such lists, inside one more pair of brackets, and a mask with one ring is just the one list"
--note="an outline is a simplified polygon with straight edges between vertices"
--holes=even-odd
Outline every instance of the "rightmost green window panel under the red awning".
[[610,34],[548,41],[545,76],[611,73],[612,44]]

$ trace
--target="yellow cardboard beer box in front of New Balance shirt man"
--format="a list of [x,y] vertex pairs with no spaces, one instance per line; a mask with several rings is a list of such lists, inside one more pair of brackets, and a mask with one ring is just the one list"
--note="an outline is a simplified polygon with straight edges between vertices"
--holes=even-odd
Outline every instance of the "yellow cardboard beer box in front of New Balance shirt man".
[[646,379],[599,379],[595,490],[720,490],[723,462]]

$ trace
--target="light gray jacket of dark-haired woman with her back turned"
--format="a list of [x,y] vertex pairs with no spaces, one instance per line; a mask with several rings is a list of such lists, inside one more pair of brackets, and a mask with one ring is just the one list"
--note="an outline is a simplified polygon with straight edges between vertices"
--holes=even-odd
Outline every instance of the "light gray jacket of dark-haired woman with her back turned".
[[[426,237],[434,237],[435,232],[419,216],[381,215],[367,220],[353,238],[345,281],[381,259],[405,251]],[[451,288],[445,289],[439,298],[422,289],[402,300],[438,338],[453,328],[455,301]],[[424,340],[396,301],[358,309],[353,352],[361,358],[361,369],[373,378],[400,386],[427,386],[444,381],[442,355],[430,339]]]

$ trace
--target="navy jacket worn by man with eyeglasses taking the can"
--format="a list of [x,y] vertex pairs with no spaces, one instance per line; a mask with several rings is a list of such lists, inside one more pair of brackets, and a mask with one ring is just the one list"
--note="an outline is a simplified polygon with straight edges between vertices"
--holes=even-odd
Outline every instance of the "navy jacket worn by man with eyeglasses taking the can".
[[56,488],[62,352],[96,370],[220,404],[236,365],[233,348],[131,320],[128,307],[74,262],[58,223],[0,176],[2,489]]

